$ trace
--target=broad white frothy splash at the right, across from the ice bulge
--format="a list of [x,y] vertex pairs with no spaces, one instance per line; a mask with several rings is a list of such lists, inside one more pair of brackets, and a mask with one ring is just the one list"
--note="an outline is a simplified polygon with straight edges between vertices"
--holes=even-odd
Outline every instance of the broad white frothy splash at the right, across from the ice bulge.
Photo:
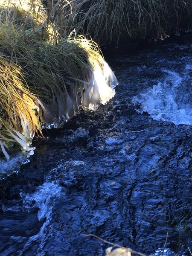
[[167,74],[163,82],[132,98],[132,102],[140,104],[137,111],[147,112],[157,121],[192,125],[191,82],[186,75],[190,70],[192,66],[187,64],[181,77],[179,73],[163,69]]

